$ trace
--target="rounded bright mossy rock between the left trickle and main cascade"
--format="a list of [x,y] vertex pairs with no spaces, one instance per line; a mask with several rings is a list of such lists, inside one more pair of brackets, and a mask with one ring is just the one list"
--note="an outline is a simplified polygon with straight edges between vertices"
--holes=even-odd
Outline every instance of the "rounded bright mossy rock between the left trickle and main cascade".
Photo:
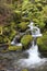
[[24,35],[21,39],[21,43],[23,44],[24,48],[26,48],[32,40],[33,40],[32,35]]

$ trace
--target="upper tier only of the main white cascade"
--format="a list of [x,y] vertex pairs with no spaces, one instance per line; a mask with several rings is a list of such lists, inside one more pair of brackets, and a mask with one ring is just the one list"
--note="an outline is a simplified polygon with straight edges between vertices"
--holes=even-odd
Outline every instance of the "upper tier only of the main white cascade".
[[31,22],[31,24],[28,25],[28,27],[31,28],[33,37],[39,37],[39,36],[42,36],[40,29],[37,26],[34,26],[33,22]]

